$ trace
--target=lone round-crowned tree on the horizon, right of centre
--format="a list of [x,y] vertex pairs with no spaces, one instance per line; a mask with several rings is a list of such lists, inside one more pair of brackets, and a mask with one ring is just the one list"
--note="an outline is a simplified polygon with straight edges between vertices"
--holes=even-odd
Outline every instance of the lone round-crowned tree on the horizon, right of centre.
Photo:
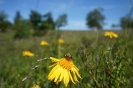
[[87,26],[90,28],[102,29],[104,24],[105,16],[101,13],[102,8],[97,8],[87,14]]

